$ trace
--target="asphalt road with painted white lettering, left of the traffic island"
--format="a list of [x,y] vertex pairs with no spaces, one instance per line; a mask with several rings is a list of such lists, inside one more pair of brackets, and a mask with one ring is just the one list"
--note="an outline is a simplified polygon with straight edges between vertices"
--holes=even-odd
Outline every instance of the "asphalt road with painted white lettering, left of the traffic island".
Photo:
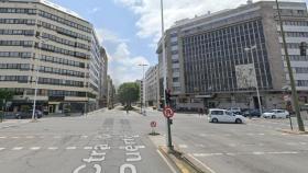
[[146,118],[99,112],[16,123],[0,131],[1,173],[172,173]]

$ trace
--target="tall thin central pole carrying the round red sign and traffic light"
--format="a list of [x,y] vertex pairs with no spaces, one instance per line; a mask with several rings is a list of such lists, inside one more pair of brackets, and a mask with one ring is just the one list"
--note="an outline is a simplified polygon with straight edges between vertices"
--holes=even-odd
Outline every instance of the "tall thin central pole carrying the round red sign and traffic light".
[[[165,50],[165,26],[164,26],[164,1],[161,0],[161,16],[162,16],[162,47],[163,47],[163,74],[164,74],[164,106],[166,103],[166,91],[167,91],[167,67],[166,67],[166,50]],[[170,124],[172,119],[168,117],[166,120],[167,124],[167,147],[170,151],[174,150],[172,141],[172,130]]]

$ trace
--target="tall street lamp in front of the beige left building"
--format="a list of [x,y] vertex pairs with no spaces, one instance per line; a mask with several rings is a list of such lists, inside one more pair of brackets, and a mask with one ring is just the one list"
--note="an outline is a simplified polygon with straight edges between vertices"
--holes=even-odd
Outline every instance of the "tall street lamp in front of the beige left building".
[[[43,38],[41,36],[36,36],[36,38],[40,39],[40,45],[38,45],[38,55],[37,58],[35,58],[35,90],[34,90],[34,100],[33,100],[33,107],[32,107],[32,122],[36,119],[35,117],[35,109],[36,109],[36,97],[37,97],[37,88],[38,88],[38,79],[40,79],[40,61],[42,57],[42,45],[43,43],[48,42],[47,38]],[[34,69],[35,69],[34,68]]]

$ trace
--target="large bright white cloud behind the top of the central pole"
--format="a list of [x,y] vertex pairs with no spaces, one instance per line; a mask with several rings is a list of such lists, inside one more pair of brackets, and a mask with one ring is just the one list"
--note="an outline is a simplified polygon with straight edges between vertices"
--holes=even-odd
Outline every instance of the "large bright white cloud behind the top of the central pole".
[[[164,0],[165,28],[174,22],[202,15],[208,11],[217,12],[224,9],[233,9],[245,4],[248,0]],[[260,1],[260,0],[254,0]],[[286,0],[285,0],[286,1]],[[292,0],[305,1],[305,0]],[[307,0],[306,0],[307,1]],[[154,43],[161,37],[161,1],[160,0],[114,0],[133,11],[139,16],[135,25],[136,35],[141,38],[152,37]]]

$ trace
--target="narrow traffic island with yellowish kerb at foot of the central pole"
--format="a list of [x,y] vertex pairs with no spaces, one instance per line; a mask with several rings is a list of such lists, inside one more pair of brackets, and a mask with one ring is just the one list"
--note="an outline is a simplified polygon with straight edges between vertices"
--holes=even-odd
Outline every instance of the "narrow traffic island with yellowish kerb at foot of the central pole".
[[210,173],[209,170],[195,164],[189,157],[176,149],[169,150],[167,147],[160,146],[158,150],[180,173]]

